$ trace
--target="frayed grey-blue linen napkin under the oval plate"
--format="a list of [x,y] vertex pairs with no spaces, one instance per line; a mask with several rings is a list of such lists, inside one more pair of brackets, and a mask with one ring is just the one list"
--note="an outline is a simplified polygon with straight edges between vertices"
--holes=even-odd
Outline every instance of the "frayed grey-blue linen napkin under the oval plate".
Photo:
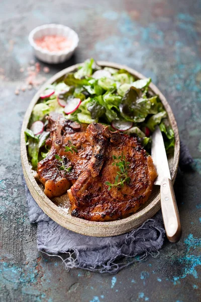
[[[186,146],[181,143],[181,168],[192,163]],[[37,246],[49,256],[62,258],[66,269],[82,268],[101,273],[117,273],[133,262],[155,257],[164,242],[165,230],[161,211],[138,229],[114,237],[89,237],[66,230],[38,206],[25,185],[29,219],[37,223]]]

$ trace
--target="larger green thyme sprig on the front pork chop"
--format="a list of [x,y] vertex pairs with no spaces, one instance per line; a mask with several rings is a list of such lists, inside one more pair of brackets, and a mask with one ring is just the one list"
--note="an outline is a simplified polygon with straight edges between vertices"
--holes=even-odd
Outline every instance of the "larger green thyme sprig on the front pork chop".
[[111,184],[109,181],[105,182],[105,184],[109,186],[108,191],[110,191],[112,187],[123,187],[124,183],[126,182],[128,184],[131,179],[130,177],[128,177],[130,162],[126,162],[126,157],[123,155],[123,152],[119,157],[113,155],[113,160],[113,166],[118,167],[120,171],[117,172],[114,184]]

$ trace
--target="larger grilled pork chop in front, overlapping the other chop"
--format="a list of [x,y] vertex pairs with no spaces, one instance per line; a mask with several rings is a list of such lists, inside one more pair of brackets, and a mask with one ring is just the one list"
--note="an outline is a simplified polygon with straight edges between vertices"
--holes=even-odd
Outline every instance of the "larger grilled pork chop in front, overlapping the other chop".
[[[93,147],[93,156],[68,190],[71,215],[91,221],[109,221],[136,212],[150,196],[157,176],[152,158],[146,155],[136,138],[119,131],[111,132],[101,124],[90,124],[86,137]],[[125,176],[118,163],[123,160],[127,165],[127,181],[121,185]],[[113,185],[118,173],[120,184]],[[110,190],[106,182],[112,184]]]

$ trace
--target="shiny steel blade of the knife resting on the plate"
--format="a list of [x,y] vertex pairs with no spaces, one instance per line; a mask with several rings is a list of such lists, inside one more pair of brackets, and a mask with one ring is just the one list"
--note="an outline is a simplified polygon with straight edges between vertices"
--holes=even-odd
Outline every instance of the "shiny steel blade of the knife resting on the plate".
[[158,174],[154,184],[160,186],[164,177],[171,179],[171,176],[163,136],[158,125],[152,134],[151,157]]

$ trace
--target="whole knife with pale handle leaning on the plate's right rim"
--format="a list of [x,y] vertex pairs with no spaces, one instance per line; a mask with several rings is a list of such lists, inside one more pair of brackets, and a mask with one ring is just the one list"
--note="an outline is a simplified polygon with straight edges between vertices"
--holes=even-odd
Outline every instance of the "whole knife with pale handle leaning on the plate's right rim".
[[151,156],[158,177],[155,185],[160,186],[160,201],[166,236],[170,242],[176,242],[181,237],[181,223],[171,181],[163,136],[157,125],[152,134]]

